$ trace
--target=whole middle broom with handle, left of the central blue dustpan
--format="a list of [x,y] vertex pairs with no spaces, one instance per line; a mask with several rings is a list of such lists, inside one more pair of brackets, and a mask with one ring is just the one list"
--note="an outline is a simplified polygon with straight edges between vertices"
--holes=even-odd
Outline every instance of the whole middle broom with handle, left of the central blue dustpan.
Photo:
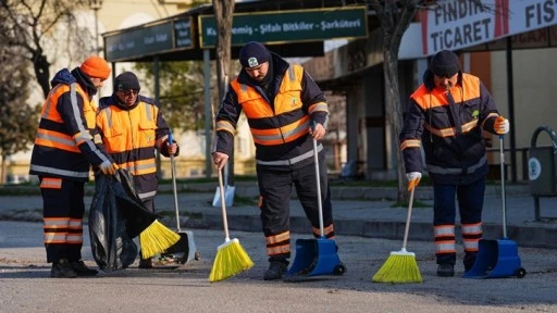
[[253,262],[248,253],[239,245],[237,238],[230,239],[228,222],[226,221],[226,204],[224,201],[224,186],[222,181],[222,171],[219,170],[219,189],[221,191],[222,220],[224,225],[224,243],[218,247],[216,256],[214,258],[213,267],[209,275],[209,281],[219,281],[234,276],[243,271],[253,266]]

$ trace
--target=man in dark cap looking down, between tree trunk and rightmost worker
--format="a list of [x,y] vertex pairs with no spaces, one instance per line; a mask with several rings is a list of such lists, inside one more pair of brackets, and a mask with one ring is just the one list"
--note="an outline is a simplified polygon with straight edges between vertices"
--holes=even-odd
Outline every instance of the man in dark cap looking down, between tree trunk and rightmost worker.
[[[312,141],[325,135],[329,110],[315,82],[300,66],[288,64],[260,42],[248,42],[239,51],[243,66],[224,97],[216,115],[213,162],[221,171],[234,149],[234,134],[244,111],[256,145],[259,208],[270,266],[263,279],[281,279],[290,256],[289,203],[292,185],[321,236],[315,164]],[[325,151],[319,142],[323,227],[334,238],[331,192]]]

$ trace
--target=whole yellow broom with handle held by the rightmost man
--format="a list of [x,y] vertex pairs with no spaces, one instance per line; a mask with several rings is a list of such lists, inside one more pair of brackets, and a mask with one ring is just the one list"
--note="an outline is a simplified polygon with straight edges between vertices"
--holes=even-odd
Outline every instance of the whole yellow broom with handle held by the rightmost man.
[[408,216],[406,218],[405,237],[403,241],[403,249],[400,251],[393,251],[387,261],[379,268],[377,273],[373,276],[373,283],[422,283],[422,275],[418,263],[416,262],[416,254],[406,251],[406,243],[408,241],[408,230],[410,229],[410,216],[412,215],[413,191],[416,186],[412,186],[410,191],[410,202],[408,203]]

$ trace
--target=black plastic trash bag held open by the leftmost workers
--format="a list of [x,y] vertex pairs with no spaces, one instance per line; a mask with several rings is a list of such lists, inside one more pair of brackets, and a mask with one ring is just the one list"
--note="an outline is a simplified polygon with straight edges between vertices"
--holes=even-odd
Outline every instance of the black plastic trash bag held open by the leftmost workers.
[[157,215],[146,209],[125,170],[96,175],[95,196],[89,210],[89,237],[95,262],[100,270],[123,270],[134,263],[138,249],[132,240]]

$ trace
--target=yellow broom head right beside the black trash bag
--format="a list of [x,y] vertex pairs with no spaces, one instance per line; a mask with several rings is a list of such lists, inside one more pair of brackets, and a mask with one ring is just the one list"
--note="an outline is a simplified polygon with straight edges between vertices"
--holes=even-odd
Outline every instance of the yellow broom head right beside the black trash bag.
[[178,242],[180,235],[169,229],[159,221],[149,225],[139,234],[139,243],[141,246],[141,258],[149,259]]

